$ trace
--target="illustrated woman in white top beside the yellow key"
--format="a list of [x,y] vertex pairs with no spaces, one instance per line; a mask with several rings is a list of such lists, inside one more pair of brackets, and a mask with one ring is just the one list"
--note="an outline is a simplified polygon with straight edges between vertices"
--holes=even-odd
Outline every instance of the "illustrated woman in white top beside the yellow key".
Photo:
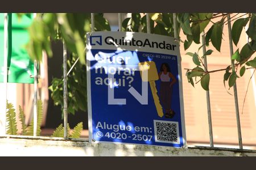
[[174,111],[171,109],[172,86],[177,82],[175,76],[171,73],[168,63],[162,63],[160,73],[158,74],[160,83],[160,103],[165,110],[167,118],[174,117]]

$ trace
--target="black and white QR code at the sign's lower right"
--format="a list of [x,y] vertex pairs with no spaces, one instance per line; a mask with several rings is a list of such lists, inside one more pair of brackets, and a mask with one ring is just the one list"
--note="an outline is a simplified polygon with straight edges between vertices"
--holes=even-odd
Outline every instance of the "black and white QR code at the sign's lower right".
[[180,144],[179,122],[154,120],[155,142]]

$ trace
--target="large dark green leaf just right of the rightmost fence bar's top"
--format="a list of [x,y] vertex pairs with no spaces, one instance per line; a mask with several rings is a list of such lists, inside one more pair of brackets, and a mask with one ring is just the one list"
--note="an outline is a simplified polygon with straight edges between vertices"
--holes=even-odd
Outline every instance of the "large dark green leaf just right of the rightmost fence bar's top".
[[242,32],[243,27],[247,24],[249,21],[249,18],[240,18],[234,22],[232,25],[232,40],[234,44],[237,46],[237,43],[240,39],[240,35]]

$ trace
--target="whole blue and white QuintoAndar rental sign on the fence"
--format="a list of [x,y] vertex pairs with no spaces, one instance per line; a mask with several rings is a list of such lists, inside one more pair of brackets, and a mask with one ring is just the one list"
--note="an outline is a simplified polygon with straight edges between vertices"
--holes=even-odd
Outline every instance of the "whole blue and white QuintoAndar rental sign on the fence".
[[186,145],[173,37],[92,32],[86,50],[90,142]]

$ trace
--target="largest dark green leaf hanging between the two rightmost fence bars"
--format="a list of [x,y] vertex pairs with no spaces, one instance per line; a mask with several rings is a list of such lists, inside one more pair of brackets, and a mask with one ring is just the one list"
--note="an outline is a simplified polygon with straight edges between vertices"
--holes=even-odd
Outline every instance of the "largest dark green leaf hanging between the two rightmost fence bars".
[[213,25],[210,40],[212,41],[212,45],[220,52],[222,41],[222,22]]

